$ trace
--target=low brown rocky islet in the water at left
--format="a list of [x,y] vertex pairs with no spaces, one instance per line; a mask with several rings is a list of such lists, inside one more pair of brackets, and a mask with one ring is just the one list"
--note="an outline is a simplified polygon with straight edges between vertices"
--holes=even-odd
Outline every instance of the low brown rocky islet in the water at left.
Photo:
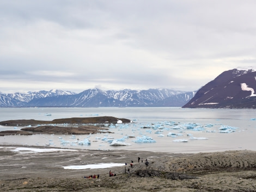
[[32,134],[90,134],[107,132],[106,123],[130,123],[131,120],[117,118],[112,116],[99,117],[72,117],[65,119],[54,119],[52,121],[40,120],[8,120],[1,121],[2,126],[22,126],[21,130],[2,131],[0,136],[4,135],[32,135]]

